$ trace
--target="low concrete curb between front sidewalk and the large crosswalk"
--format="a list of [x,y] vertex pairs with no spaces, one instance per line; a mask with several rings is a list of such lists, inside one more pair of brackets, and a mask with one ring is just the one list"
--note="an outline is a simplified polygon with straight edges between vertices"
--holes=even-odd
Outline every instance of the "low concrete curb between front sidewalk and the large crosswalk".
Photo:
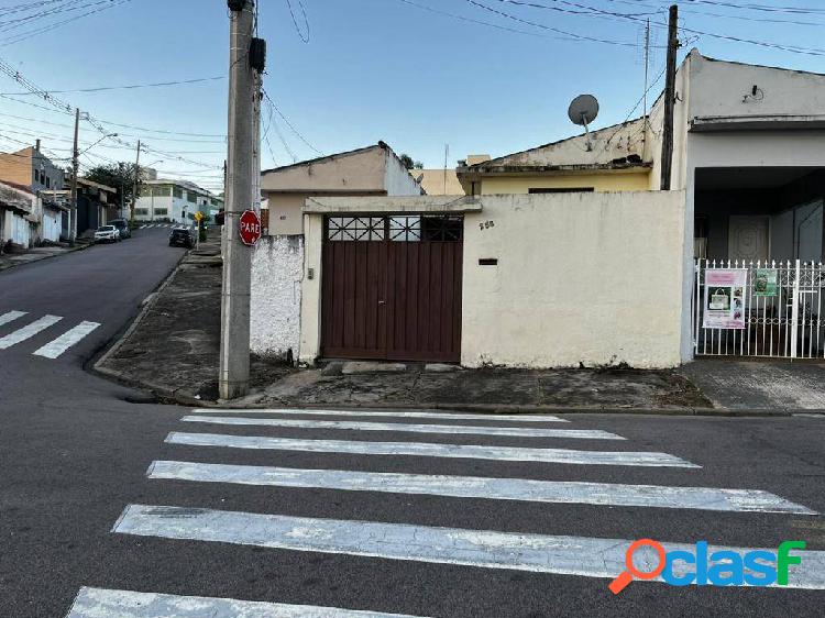
[[[185,405],[190,405],[186,402]],[[570,406],[519,406],[519,405],[495,405],[495,404],[443,404],[443,402],[422,402],[422,404],[363,404],[360,406],[353,405],[337,405],[337,404],[312,404],[301,405],[298,401],[284,401],[278,405],[264,405],[264,404],[249,404],[249,405],[232,405],[231,401],[198,401],[200,408],[216,408],[216,409],[243,409],[243,410],[263,410],[275,407],[296,407],[305,408],[308,410],[312,409],[329,409],[334,407],[341,410],[447,410],[447,411],[462,411],[462,412],[474,412],[474,413],[508,413],[508,415],[536,415],[536,413],[551,413],[551,415],[650,415],[650,416],[693,416],[693,417],[719,417],[719,418],[783,418],[792,417],[798,413],[806,415],[823,415],[825,410],[807,410],[807,409],[792,409],[792,410],[762,410],[762,409],[748,409],[748,410],[736,410],[726,408],[572,408]]]

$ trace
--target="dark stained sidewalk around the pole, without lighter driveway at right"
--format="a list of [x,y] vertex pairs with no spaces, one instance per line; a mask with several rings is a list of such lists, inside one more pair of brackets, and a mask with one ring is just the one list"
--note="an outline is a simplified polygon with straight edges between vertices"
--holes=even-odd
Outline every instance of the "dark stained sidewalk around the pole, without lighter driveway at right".
[[[185,404],[218,398],[220,240],[187,254],[145,304],[132,328],[96,364],[121,382]],[[388,369],[403,371],[388,371]],[[250,406],[518,406],[582,409],[708,408],[710,401],[675,372],[632,369],[459,369],[331,363],[296,369],[252,358]]]

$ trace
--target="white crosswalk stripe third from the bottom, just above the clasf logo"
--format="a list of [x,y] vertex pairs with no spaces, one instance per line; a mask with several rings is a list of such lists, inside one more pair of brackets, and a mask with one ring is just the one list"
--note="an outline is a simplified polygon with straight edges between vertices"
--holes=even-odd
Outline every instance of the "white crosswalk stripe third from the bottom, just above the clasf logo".
[[148,478],[167,481],[232,483],[238,485],[302,487],[350,492],[382,492],[387,494],[447,496],[451,498],[816,515],[815,511],[802,505],[758,489],[666,487],[657,485],[531,481],[525,478],[398,474],[345,470],[299,470],[172,461],[154,462],[146,475]]

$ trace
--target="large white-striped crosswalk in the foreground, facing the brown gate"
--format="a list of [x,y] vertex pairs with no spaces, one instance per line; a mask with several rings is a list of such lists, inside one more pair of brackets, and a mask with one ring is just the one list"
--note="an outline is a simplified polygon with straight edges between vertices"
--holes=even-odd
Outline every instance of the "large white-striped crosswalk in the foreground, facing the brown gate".
[[[299,418],[302,417],[302,418]],[[339,417],[336,419],[336,417]],[[361,417],[361,418],[355,418]],[[342,420],[346,419],[346,420]],[[612,432],[571,428],[553,429],[547,424],[562,419],[547,415],[536,416],[487,416],[450,413],[441,411],[403,410],[370,412],[365,410],[304,410],[297,408],[271,410],[218,410],[195,409],[184,416],[182,422],[209,426],[216,432],[170,432],[165,442],[170,448],[197,449],[202,457],[218,461],[152,462],[146,476],[152,483],[223,484],[246,486],[266,492],[267,488],[290,488],[297,492],[322,489],[348,492],[353,500],[372,499],[374,495],[402,495],[406,500],[422,499],[424,496],[453,500],[487,500],[474,503],[492,505],[506,500],[513,508],[515,503],[541,505],[586,505],[605,509],[608,521],[610,508],[638,509],[640,537],[645,534],[645,509],[671,509],[673,517],[701,517],[705,512],[718,517],[760,515],[762,517],[816,516],[804,505],[761,489],[703,487],[700,483],[663,485],[656,483],[603,483],[570,478],[576,470],[600,470],[598,466],[625,466],[656,479],[663,468],[671,468],[682,478],[689,478],[702,466],[667,452],[638,450],[600,449],[598,442],[585,443],[588,449],[540,446],[534,439],[561,441],[582,440],[624,441],[627,439]],[[389,422],[393,421],[393,422]],[[429,422],[432,421],[432,422]],[[468,421],[483,421],[468,424]],[[564,422],[568,422],[564,419]],[[224,428],[230,433],[220,433]],[[289,430],[307,432],[298,438],[257,435]],[[317,439],[311,432],[346,430],[359,432],[360,440]],[[391,432],[393,441],[375,440],[375,432]],[[440,434],[441,442],[417,441],[419,433]],[[293,433],[294,434],[294,433]],[[454,435],[455,440],[450,440]],[[484,444],[468,444],[483,438]],[[495,443],[514,439],[518,446]],[[617,446],[622,444],[614,442]],[[568,444],[564,444],[565,446]],[[613,444],[612,444],[613,445]],[[632,446],[630,444],[630,446]],[[204,449],[206,448],[206,449]],[[238,450],[238,451],[233,451]],[[272,461],[274,465],[241,465],[221,461],[242,450],[256,451],[256,457]],[[346,455],[346,470],[336,467],[286,467],[277,465],[279,452],[323,453],[329,457]],[[187,451],[190,453],[190,451]],[[525,462],[538,466],[546,473],[563,479],[520,478],[509,476],[465,476],[420,472],[382,472],[350,470],[352,461],[369,466],[373,462],[386,462],[381,456],[393,457],[395,465],[426,464],[426,470],[438,466],[439,460]],[[201,457],[198,457],[201,459]],[[334,461],[330,459],[329,461]],[[386,465],[386,464],[384,464]],[[570,467],[570,466],[579,466]],[[565,466],[565,467],[559,467]],[[586,466],[586,467],[582,467]],[[419,467],[420,470],[420,467]],[[518,468],[517,468],[518,470]],[[606,470],[601,467],[601,470]],[[372,496],[371,496],[372,495]],[[394,564],[409,562],[421,564],[450,564],[468,569],[495,569],[527,571],[538,574],[568,575],[587,578],[612,580],[625,571],[626,551],[635,539],[565,536],[556,533],[527,533],[487,529],[421,526],[411,522],[387,522],[376,520],[300,517],[278,512],[277,503],[264,503],[265,512],[227,510],[220,505],[184,506],[173,504],[124,505],[121,517],[114,522],[112,532],[131,537],[152,537],[162,540],[194,543],[223,543],[248,545],[286,552],[314,552],[340,556],[361,556],[392,561]],[[465,503],[459,503],[461,505]],[[218,508],[213,508],[218,506]],[[680,511],[684,511],[681,515]],[[372,512],[372,511],[371,511]],[[300,514],[299,514],[300,515]],[[371,518],[373,519],[373,518]],[[562,520],[563,521],[563,520]],[[666,551],[693,549],[690,543],[698,539],[660,541]],[[754,548],[770,547],[754,541]],[[730,551],[740,556],[752,551],[747,547],[712,547],[710,552]],[[799,551],[799,564],[789,567],[789,588],[825,589],[825,552]],[[657,554],[642,548],[634,554],[634,563],[641,571],[652,571]],[[673,573],[683,575],[686,563],[675,563]],[[656,581],[661,581],[660,577]],[[607,582],[605,582],[606,591]],[[607,593],[606,593],[607,594]],[[277,602],[277,599],[270,599]],[[404,607],[403,605],[399,607]],[[392,609],[392,608],[391,608]],[[422,611],[422,615],[436,615]],[[215,618],[251,617],[398,617],[408,614],[381,614],[363,609],[341,609],[311,605],[283,605],[229,598],[186,597],[158,594],[152,591],[127,592],[82,588],[67,618]]]

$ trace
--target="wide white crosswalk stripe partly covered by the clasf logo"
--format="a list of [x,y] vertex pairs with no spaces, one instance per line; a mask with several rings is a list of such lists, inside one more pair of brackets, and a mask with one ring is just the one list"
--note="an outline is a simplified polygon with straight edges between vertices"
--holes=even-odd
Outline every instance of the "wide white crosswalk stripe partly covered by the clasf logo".
[[[625,553],[632,542],[145,505],[129,505],[112,531],[141,537],[608,578],[626,570]],[[681,543],[662,542],[662,545],[666,552],[693,549]],[[712,547],[708,555],[719,550],[734,551],[739,555],[751,551],[747,548]],[[801,556],[802,562],[789,566],[788,587],[825,589],[825,551],[800,551],[794,554]],[[658,565],[656,550],[640,548],[634,554],[634,564],[640,571],[653,571]],[[692,565],[674,561],[672,569],[680,576]]]

